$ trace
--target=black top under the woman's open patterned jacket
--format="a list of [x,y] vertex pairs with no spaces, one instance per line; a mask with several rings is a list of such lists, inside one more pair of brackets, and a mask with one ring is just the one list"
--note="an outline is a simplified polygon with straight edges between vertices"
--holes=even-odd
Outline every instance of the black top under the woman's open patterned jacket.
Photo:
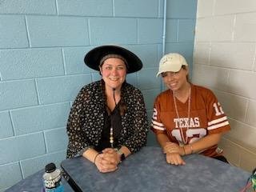
[[110,145],[110,128],[113,127],[113,136],[114,136],[114,148],[118,147],[117,140],[120,136],[122,130],[121,125],[121,114],[119,112],[119,103],[114,107],[114,110],[108,113],[108,110],[105,110],[104,114],[104,128],[102,130],[102,138],[98,142],[98,146],[95,147],[95,150],[102,151]]

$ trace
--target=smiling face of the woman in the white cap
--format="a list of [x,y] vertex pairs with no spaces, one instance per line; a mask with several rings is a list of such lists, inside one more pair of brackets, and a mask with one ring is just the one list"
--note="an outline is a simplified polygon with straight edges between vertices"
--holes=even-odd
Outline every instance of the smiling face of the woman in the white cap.
[[186,66],[182,66],[181,70],[178,72],[163,72],[162,79],[165,82],[166,86],[175,91],[182,90],[184,86],[186,86],[187,79],[186,76],[188,74],[188,68]]

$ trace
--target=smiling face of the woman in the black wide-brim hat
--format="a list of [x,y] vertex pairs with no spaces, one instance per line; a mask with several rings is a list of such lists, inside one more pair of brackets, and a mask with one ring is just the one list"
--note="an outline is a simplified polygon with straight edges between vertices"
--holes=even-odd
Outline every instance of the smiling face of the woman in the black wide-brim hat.
[[107,58],[100,66],[106,89],[120,90],[126,80],[126,64],[120,58]]

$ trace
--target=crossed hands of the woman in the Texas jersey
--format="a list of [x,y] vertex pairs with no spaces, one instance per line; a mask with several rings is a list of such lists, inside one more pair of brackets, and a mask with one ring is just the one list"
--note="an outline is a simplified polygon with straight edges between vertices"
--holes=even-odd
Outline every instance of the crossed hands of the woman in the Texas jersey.
[[172,165],[185,165],[186,162],[182,159],[185,154],[184,149],[174,142],[166,142],[166,146],[163,148],[164,154],[166,154],[166,162]]

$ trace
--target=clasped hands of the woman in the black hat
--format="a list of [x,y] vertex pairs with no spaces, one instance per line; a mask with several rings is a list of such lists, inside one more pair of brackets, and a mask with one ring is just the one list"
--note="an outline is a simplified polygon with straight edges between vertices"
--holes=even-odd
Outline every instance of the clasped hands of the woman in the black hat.
[[102,173],[117,170],[119,162],[119,154],[112,148],[102,150],[102,154],[98,154],[98,156],[95,158],[95,165],[97,166],[99,172]]

